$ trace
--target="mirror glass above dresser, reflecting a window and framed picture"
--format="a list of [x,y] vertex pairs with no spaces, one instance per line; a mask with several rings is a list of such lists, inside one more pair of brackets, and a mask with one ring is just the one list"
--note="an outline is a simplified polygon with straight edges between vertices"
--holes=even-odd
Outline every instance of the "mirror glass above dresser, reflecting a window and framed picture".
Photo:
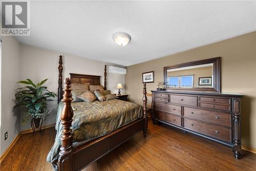
[[212,88],[213,63],[167,69],[166,87]]

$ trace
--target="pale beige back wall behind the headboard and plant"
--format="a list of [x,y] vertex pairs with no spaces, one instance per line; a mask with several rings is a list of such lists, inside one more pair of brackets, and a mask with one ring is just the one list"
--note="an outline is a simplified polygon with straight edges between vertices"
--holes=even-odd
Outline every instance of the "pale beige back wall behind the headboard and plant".
[[[35,82],[49,78],[46,86],[49,91],[57,93],[58,88],[58,57],[63,56],[63,78],[69,77],[69,73],[100,75],[101,84],[104,83],[104,65],[108,67],[113,64],[88,58],[78,57],[71,54],[54,52],[28,45],[20,45],[20,79],[30,78]],[[108,73],[107,89],[117,93],[117,83],[125,84],[124,75]],[[122,90],[124,91],[124,89]],[[44,125],[55,123],[57,98],[49,104],[50,116],[43,123]],[[22,120],[24,115],[20,117]],[[30,129],[30,124],[20,125],[20,131]]]

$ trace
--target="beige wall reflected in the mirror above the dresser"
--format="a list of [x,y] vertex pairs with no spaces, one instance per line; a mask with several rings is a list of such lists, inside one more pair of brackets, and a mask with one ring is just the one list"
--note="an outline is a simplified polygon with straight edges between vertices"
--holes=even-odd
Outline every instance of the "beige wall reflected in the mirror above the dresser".
[[189,70],[170,71],[167,72],[167,76],[182,76],[182,75],[194,75],[193,87],[212,87],[212,86],[199,86],[200,77],[211,77],[212,67],[202,67]]

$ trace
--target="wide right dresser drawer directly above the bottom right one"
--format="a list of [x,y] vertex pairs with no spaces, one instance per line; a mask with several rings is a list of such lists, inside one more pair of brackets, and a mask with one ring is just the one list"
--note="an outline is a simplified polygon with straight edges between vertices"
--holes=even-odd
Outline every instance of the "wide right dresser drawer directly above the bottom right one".
[[229,113],[212,112],[201,109],[184,107],[184,117],[208,121],[219,125],[231,127],[231,115]]

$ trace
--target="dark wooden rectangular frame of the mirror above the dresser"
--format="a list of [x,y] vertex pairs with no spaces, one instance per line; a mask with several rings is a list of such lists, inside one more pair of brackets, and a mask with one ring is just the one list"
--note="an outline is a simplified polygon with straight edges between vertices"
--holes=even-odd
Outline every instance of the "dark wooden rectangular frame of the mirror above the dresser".
[[167,70],[169,70],[169,69],[197,66],[197,65],[207,64],[207,63],[213,63],[212,88],[168,88],[168,87],[166,87],[166,89],[167,90],[189,90],[189,91],[197,91],[197,92],[198,91],[221,92],[221,57],[197,60],[197,61],[193,61],[193,62],[181,63],[181,64],[174,65],[174,66],[164,67],[163,68],[164,82],[166,82]]

